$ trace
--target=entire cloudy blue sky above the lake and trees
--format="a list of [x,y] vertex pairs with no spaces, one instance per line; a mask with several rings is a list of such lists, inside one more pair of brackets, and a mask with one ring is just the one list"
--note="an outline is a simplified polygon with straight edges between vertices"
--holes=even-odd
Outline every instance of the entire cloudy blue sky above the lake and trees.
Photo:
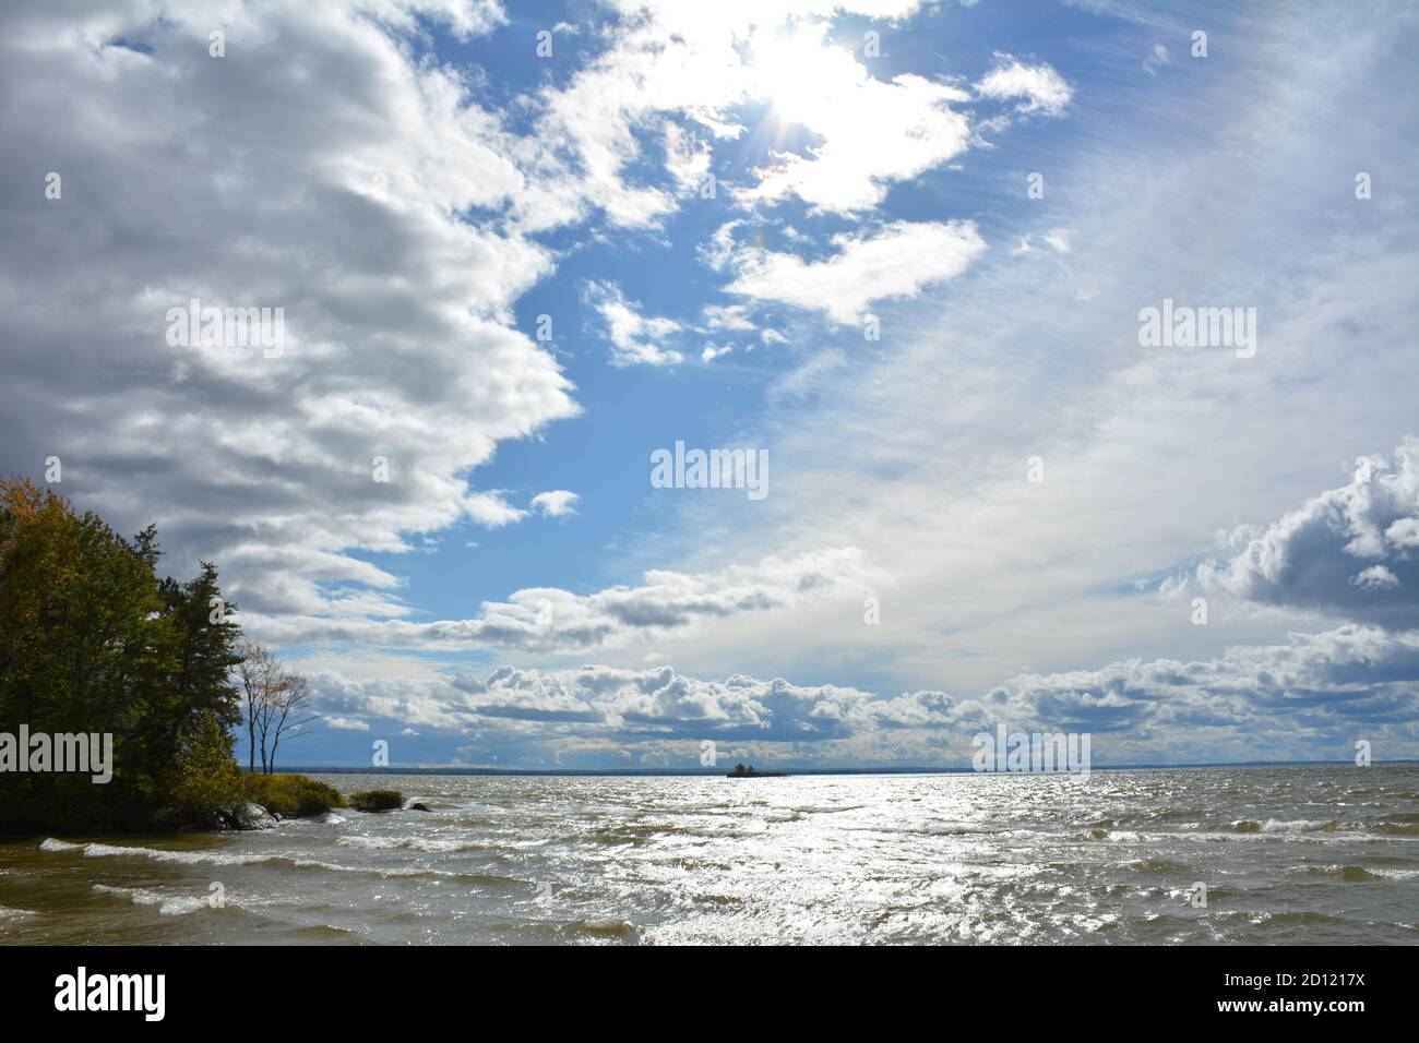
[[1416,37],[7,4],[0,473],[214,561],[294,763],[1415,758]]

